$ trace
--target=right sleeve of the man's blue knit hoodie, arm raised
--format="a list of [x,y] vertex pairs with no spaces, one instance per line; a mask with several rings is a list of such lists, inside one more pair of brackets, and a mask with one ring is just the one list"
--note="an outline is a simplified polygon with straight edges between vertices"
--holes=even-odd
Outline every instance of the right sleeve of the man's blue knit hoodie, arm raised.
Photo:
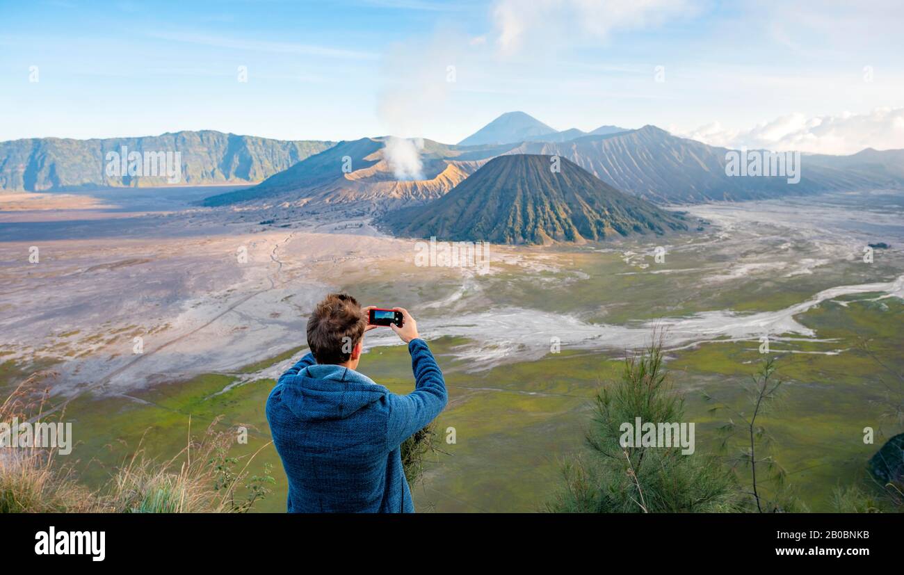
[[391,393],[387,396],[390,410],[386,443],[389,449],[397,448],[405,439],[423,429],[446,407],[446,382],[427,342],[412,339],[408,351],[414,371],[414,391],[408,395]]

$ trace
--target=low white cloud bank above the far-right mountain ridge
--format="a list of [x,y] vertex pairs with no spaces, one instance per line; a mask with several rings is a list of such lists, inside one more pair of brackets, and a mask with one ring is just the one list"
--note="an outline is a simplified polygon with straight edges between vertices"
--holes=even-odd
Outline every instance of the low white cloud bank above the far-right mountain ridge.
[[904,108],[876,108],[867,114],[807,118],[790,114],[749,130],[724,129],[719,122],[680,134],[711,146],[855,154],[866,147],[904,148]]

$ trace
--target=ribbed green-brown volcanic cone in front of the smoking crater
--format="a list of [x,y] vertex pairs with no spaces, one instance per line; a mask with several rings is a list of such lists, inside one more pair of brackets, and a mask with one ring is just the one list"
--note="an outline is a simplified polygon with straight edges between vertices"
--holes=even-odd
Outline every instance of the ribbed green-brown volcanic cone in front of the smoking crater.
[[619,192],[567,159],[536,155],[496,157],[437,201],[392,212],[383,222],[409,237],[512,244],[687,229],[680,216]]

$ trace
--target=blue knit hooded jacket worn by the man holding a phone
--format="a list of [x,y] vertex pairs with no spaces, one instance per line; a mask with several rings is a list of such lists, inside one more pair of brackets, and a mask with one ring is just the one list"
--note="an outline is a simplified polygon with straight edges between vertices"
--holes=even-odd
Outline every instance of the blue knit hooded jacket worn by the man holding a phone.
[[446,383],[421,339],[408,344],[415,390],[396,395],[308,353],[267,400],[288,477],[289,513],[414,513],[401,443],[446,407]]

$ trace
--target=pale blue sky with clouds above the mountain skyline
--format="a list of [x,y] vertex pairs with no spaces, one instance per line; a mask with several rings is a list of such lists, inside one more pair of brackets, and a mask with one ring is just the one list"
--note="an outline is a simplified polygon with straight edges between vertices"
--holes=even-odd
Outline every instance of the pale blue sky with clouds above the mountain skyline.
[[0,0],[0,140],[211,128],[454,143],[520,109],[558,129],[904,147],[899,3],[788,4]]

